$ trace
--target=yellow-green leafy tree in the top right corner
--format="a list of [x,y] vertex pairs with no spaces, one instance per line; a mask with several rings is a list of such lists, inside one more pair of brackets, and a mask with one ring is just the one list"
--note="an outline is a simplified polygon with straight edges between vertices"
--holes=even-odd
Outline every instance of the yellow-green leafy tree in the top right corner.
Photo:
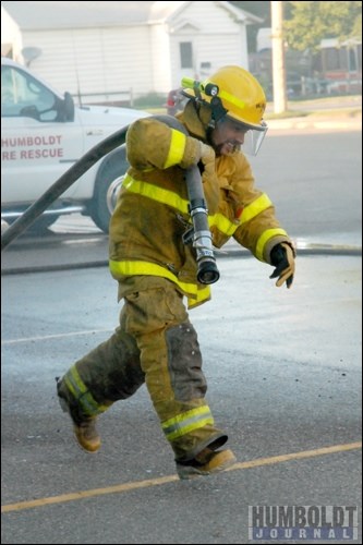
[[292,49],[316,51],[324,38],[362,38],[362,2],[288,2],[285,38]]

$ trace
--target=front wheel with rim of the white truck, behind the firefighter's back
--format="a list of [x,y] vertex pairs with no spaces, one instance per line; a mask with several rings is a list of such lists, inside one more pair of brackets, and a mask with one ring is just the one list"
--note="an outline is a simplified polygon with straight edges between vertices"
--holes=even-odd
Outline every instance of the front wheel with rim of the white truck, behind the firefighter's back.
[[126,160],[112,162],[100,169],[94,192],[89,215],[96,226],[108,233],[111,214],[114,207],[114,192],[122,183],[122,177],[126,172],[129,164]]

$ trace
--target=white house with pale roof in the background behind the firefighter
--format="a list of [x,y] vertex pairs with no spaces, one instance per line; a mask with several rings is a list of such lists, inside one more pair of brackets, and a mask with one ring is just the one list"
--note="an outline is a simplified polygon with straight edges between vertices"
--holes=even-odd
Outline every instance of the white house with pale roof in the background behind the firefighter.
[[183,76],[205,78],[226,64],[249,69],[246,25],[262,22],[226,1],[1,3],[25,53],[40,51],[31,68],[88,101],[166,94]]

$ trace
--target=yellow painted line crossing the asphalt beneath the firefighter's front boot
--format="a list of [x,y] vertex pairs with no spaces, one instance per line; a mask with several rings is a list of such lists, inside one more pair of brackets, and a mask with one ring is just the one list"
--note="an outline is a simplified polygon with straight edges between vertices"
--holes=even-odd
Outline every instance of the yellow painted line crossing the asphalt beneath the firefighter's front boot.
[[[226,471],[247,470],[262,465],[271,465],[275,463],[288,462],[290,460],[301,460],[303,458],[314,458],[316,456],[331,455],[335,452],[346,452],[362,448],[362,441],[349,443],[346,445],[334,445],[331,447],[317,448],[315,450],[303,450],[301,452],[290,452],[288,455],[273,456],[270,458],[258,458],[247,462],[237,462]],[[33,509],[35,507],[49,506],[52,504],[63,504],[65,501],[74,501],[94,496],[102,496],[105,494],[121,494],[124,492],[135,491],[137,488],[148,488],[149,486],[160,486],[167,483],[179,481],[177,475],[168,475],[158,479],[148,479],[134,483],[125,483],[116,486],[107,486],[106,488],[94,488],[93,491],[81,491],[71,494],[61,494],[50,498],[33,499],[31,501],[19,501],[17,504],[8,504],[1,506],[1,512],[20,511],[23,509]]]

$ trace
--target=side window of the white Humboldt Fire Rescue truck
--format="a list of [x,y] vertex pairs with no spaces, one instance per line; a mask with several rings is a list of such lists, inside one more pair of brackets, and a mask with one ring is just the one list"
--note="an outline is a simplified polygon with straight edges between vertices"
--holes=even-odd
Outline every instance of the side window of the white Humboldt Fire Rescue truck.
[[56,121],[57,96],[40,82],[12,66],[1,68],[1,117]]

